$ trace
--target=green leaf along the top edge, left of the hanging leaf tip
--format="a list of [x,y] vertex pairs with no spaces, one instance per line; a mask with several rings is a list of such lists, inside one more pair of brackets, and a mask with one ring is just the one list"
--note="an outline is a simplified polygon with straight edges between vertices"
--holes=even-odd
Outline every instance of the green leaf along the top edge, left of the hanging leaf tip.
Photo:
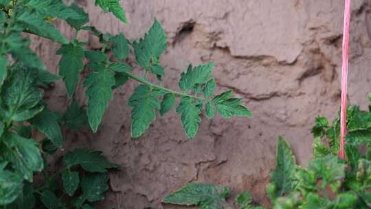
[[42,17],[59,19],[83,19],[80,13],[67,7],[61,0],[26,0],[25,6],[36,10]]

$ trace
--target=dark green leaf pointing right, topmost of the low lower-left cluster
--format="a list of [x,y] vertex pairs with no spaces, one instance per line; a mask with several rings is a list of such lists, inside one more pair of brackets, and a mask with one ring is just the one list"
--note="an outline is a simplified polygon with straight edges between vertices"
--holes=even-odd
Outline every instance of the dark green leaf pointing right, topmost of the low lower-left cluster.
[[109,162],[100,151],[88,151],[87,149],[78,148],[75,151],[67,153],[63,157],[67,167],[80,164],[84,170],[89,172],[105,173],[108,168],[119,168],[117,164]]

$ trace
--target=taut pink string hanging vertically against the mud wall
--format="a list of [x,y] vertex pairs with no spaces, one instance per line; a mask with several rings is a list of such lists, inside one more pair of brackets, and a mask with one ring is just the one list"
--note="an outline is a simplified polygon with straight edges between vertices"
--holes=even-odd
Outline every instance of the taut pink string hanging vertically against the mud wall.
[[345,0],[343,66],[341,67],[341,113],[340,113],[340,157],[342,159],[345,159],[344,136],[346,134],[346,95],[347,95],[346,91],[348,80],[349,25],[350,25],[350,0]]

